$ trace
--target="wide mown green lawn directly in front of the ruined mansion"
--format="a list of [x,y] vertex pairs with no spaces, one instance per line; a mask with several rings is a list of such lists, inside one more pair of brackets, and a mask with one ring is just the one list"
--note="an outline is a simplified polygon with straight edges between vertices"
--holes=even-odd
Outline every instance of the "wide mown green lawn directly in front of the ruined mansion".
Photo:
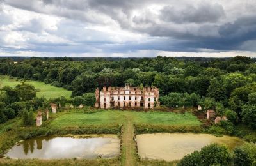
[[63,114],[51,126],[86,126],[124,123],[129,118],[134,123],[165,124],[173,126],[198,126],[200,121],[190,113],[176,114],[172,112],[135,112],[104,110],[95,113]]

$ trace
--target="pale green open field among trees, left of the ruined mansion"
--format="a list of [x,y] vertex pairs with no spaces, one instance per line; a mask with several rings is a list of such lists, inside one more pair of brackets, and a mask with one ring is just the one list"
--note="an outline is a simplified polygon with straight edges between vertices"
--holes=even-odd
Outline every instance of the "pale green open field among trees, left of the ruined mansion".
[[[10,86],[15,87],[17,84],[20,84],[21,81],[16,81],[16,79],[9,79],[7,75],[0,75],[0,87]],[[65,96],[66,98],[70,98],[72,91],[67,91],[64,88],[54,87],[49,84],[45,84],[44,82],[26,80],[26,83],[32,84],[38,90],[36,96],[45,98],[58,98],[61,96]]]

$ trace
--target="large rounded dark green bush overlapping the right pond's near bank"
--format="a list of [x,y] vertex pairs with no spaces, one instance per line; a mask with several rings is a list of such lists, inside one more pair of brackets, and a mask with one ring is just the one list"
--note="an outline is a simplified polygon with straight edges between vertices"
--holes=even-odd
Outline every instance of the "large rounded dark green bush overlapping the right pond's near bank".
[[184,156],[178,165],[230,165],[232,155],[226,146],[210,144],[201,149]]

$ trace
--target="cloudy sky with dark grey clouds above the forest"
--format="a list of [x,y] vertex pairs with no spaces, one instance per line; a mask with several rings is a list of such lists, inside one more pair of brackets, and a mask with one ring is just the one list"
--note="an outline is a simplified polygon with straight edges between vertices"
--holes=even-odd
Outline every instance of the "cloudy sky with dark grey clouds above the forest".
[[255,0],[0,0],[0,56],[256,57]]

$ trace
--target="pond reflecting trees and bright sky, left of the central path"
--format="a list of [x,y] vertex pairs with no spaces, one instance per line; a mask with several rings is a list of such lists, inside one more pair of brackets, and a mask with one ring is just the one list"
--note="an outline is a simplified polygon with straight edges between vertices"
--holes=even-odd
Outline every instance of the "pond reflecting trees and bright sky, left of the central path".
[[35,137],[17,143],[6,153],[10,158],[113,158],[118,156],[116,135]]

